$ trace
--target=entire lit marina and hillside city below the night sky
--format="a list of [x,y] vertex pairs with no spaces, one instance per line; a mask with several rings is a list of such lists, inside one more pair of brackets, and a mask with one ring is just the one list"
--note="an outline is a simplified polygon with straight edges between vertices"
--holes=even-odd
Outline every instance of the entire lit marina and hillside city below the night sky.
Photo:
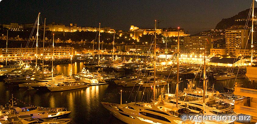
[[163,20],[46,27],[40,12],[34,26],[0,24],[0,124],[257,124],[255,1],[194,35]]

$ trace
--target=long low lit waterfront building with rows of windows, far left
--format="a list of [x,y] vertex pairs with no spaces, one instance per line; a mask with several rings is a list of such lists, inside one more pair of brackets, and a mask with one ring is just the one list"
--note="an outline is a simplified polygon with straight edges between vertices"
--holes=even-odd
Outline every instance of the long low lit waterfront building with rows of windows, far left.
[[[53,48],[46,47],[44,48],[44,58],[48,59],[52,57]],[[57,46],[54,48],[54,57],[55,58],[66,58],[73,55],[73,47],[69,46]],[[38,58],[43,57],[43,48],[37,48]],[[8,48],[6,53],[6,48],[1,48],[0,50],[1,60],[7,59],[19,60],[19,59],[35,59],[36,57],[36,48]]]

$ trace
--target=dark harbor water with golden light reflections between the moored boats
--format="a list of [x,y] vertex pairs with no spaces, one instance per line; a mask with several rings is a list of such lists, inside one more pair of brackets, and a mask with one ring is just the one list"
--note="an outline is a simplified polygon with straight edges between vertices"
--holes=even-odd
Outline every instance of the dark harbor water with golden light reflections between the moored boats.
[[[76,74],[80,72],[83,67],[83,63],[74,64],[60,64],[55,66],[55,73],[69,75],[71,73]],[[176,77],[172,78],[176,81]],[[182,81],[179,85],[180,91],[187,87],[187,80],[194,80],[195,86],[201,87],[201,81],[199,78],[195,79],[193,76],[182,76]],[[215,81],[212,78],[209,79],[208,86],[211,87],[214,84],[216,90],[224,91],[224,87],[232,88],[234,82],[242,82],[247,79],[231,79],[230,81]],[[161,92],[163,86],[156,87],[156,96]],[[175,92],[176,84],[171,83],[169,85],[170,92]],[[124,124],[120,120],[112,116],[107,109],[105,109],[101,102],[120,103],[120,97],[122,90],[122,103],[145,101],[149,102],[153,96],[152,88],[138,88],[138,87],[122,87],[117,86],[115,83],[90,86],[88,88],[76,89],[70,91],[38,91],[27,90],[26,88],[18,88],[12,85],[7,85],[0,82],[0,105],[5,107],[6,103],[13,97],[24,102],[24,106],[35,105],[40,107],[66,107],[72,113],[68,116],[72,119],[71,124]],[[167,93],[167,85],[164,86],[164,93]],[[17,101],[16,101],[17,102]]]

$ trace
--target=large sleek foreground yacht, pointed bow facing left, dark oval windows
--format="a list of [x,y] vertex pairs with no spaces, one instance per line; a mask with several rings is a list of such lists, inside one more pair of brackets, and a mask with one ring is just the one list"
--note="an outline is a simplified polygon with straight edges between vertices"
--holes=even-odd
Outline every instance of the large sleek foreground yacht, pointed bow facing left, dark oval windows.
[[127,124],[191,124],[193,121],[182,120],[185,108],[166,108],[153,103],[132,102],[128,104],[114,104],[102,102],[116,118]]

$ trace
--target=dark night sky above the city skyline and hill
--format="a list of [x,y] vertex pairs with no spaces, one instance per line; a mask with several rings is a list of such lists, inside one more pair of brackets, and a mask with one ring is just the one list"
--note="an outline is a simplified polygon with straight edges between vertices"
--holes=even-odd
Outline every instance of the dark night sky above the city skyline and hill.
[[[78,26],[111,27],[128,31],[139,28],[184,28],[195,34],[214,29],[223,18],[249,9],[252,0],[2,0],[0,24],[34,23],[40,12],[40,23],[76,23]],[[256,4],[256,2],[255,2]]]

